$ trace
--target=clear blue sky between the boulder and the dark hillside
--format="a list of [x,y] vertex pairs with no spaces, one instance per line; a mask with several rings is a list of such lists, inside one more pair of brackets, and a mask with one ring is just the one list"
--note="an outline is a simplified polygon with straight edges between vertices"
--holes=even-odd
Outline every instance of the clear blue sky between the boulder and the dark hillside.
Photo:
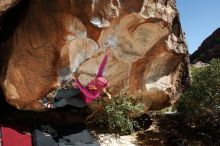
[[220,27],[220,0],[176,0],[190,53]]

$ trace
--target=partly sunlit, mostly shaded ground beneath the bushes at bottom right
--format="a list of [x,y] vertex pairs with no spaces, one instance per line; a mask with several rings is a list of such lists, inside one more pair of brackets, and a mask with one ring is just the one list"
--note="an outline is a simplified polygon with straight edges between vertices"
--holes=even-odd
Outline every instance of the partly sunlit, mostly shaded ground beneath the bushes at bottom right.
[[119,136],[97,132],[101,146],[207,146],[220,145],[220,129],[188,127],[177,115],[151,116],[150,127],[133,135]]

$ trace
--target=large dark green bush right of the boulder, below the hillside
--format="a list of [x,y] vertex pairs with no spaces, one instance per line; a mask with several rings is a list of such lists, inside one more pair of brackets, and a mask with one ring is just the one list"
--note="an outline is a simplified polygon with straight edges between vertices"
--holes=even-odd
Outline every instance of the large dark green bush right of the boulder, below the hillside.
[[[220,114],[220,60],[192,68],[192,85],[180,97],[177,110],[195,126],[217,126]],[[211,125],[210,125],[211,124]]]

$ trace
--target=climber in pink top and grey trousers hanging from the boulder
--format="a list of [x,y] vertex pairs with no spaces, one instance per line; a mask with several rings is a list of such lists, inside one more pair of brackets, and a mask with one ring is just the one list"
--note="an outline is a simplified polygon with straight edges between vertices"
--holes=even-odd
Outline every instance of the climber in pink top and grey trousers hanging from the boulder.
[[72,78],[75,81],[73,87],[76,86],[77,88],[60,89],[57,91],[52,103],[48,102],[46,98],[44,98],[46,101],[42,101],[42,103],[47,108],[64,107],[66,105],[86,107],[87,104],[97,99],[101,95],[101,92],[104,92],[108,98],[111,98],[111,95],[106,92],[108,81],[103,78],[103,71],[108,60],[109,50],[110,47],[106,49],[105,56],[99,66],[95,79],[90,81],[87,86],[84,87],[78,80],[79,74],[74,73],[72,75]]

